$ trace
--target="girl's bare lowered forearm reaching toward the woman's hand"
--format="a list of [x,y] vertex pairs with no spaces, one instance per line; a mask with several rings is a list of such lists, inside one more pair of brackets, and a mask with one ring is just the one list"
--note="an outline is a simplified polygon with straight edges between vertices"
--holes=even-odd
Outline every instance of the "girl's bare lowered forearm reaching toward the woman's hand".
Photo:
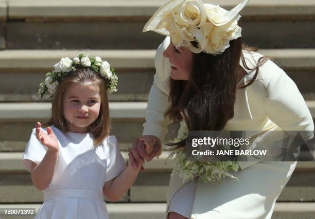
[[132,186],[133,182],[141,170],[141,165],[134,169],[131,165],[120,173],[118,176],[105,182],[103,186],[103,194],[111,201],[116,202],[127,190]]

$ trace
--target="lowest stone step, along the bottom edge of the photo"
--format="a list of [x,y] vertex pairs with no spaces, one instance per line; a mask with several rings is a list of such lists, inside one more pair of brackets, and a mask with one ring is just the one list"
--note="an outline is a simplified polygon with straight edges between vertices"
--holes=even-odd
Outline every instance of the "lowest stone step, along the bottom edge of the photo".
[[[36,209],[38,212],[40,204],[4,204],[1,209]],[[109,217],[111,219],[161,219],[165,218],[165,203],[113,203],[107,204]],[[4,210],[2,210],[4,211]],[[276,203],[272,219],[314,219],[315,203]],[[21,215],[0,215],[3,219],[17,219]],[[33,218],[33,216],[23,216]]]

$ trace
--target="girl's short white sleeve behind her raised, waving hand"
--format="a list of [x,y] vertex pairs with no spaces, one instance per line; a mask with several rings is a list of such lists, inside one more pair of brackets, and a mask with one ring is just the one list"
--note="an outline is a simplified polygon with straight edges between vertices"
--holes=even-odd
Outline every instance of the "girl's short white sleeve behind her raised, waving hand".
[[[46,130],[41,128],[45,133]],[[26,144],[26,148],[24,151],[24,155],[22,158],[23,164],[28,171],[31,172],[32,162],[39,165],[39,163],[44,158],[47,151],[47,147],[43,145],[37,138],[36,138],[36,129],[32,130],[32,134],[29,138],[29,141]]]

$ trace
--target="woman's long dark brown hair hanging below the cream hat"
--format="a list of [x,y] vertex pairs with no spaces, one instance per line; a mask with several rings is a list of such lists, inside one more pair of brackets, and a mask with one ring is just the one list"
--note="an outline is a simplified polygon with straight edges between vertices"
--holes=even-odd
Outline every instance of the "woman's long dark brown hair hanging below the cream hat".
[[[255,68],[245,61],[242,49],[256,51],[254,47],[243,44],[241,38],[230,41],[230,47],[222,54],[213,56],[204,52],[194,53],[192,74],[187,81],[170,78],[170,106],[164,116],[173,121],[184,119],[188,130],[223,130],[226,122],[234,117],[236,89],[251,85],[257,77],[259,67],[266,61],[261,57]],[[256,70],[253,79],[246,85],[237,87],[238,76],[244,68]],[[183,147],[180,143],[168,144]]]

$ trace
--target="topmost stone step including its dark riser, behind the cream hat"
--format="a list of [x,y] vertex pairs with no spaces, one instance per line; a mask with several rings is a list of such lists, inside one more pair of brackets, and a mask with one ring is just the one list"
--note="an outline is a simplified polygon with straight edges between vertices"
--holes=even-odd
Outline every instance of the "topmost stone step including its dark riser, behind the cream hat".
[[[5,48],[155,49],[163,36],[142,33],[142,30],[149,17],[165,2],[98,0],[92,6],[82,0],[66,3],[60,0],[9,1],[8,20],[2,25],[3,35],[6,35]],[[241,1],[205,2],[231,9]],[[315,48],[315,5],[312,0],[299,3],[294,0],[254,0],[241,14],[243,41],[249,45]]]

